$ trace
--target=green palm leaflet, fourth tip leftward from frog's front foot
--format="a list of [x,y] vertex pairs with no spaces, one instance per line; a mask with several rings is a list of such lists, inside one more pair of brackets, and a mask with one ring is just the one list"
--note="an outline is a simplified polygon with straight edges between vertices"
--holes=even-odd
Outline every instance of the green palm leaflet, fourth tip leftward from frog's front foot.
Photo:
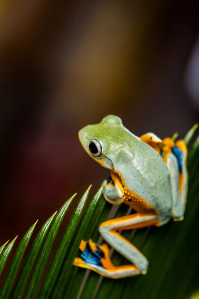
[[30,274],[30,271],[33,267],[33,264],[35,262],[35,259],[37,257],[37,254],[41,248],[41,245],[43,243],[43,240],[48,232],[48,229],[55,217],[57,212],[55,212],[45,223],[44,225],[42,226],[41,230],[39,231],[33,245],[32,245],[32,248],[26,258],[26,261],[23,265],[23,268],[21,269],[21,272],[20,272],[20,275],[17,279],[17,282],[15,284],[15,287],[12,291],[12,295],[11,295],[11,299],[20,299],[22,297],[22,294],[24,292],[24,289],[25,289],[25,285],[26,285],[26,282],[28,280],[28,277],[29,277],[29,274]]

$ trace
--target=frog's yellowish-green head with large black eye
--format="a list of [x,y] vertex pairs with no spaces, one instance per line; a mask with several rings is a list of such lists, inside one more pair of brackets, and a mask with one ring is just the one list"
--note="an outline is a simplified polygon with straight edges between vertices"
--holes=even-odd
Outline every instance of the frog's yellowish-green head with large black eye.
[[86,152],[103,167],[114,170],[114,161],[122,147],[122,121],[108,115],[99,124],[79,131],[79,140]]

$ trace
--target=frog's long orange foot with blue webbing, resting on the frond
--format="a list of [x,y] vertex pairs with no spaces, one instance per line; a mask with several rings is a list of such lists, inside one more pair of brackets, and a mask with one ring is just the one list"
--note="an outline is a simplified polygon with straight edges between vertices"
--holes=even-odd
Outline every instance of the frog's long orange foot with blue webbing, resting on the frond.
[[74,259],[74,266],[93,270],[113,279],[140,274],[139,269],[133,265],[115,267],[110,261],[110,251],[106,244],[97,245],[91,239],[88,242],[82,240],[79,248],[82,252],[80,258]]

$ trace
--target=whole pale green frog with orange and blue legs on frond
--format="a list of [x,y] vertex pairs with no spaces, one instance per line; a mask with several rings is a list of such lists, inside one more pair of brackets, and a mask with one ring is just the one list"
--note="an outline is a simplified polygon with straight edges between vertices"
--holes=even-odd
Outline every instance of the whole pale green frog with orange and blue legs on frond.
[[[115,115],[84,127],[78,136],[86,152],[110,171],[110,177],[103,181],[104,199],[112,205],[126,204],[134,213],[101,223],[99,232],[106,243],[82,240],[81,254],[73,265],[111,279],[146,274],[147,258],[119,232],[184,219],[188,192],[186,143],[183,139],[176,141],[177,135],[162,140],[149,132],[137,137]],[[130,264],[113,265],[107,244]]]

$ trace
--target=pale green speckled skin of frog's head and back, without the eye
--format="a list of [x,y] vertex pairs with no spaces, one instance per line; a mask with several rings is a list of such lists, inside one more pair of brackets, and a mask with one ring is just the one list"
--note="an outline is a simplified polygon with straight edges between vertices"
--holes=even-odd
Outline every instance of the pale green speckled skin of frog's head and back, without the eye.
[[[102,147],[102,156],[89,151],[92,139]],[[170,174],[163,158],[123,125],[119,117],[109,115],[99,124],[88,125],[79,132],[88,154],[103,167],[118,170],[126,186],[153,206],[164,224],[171,218],[172,193]]]

